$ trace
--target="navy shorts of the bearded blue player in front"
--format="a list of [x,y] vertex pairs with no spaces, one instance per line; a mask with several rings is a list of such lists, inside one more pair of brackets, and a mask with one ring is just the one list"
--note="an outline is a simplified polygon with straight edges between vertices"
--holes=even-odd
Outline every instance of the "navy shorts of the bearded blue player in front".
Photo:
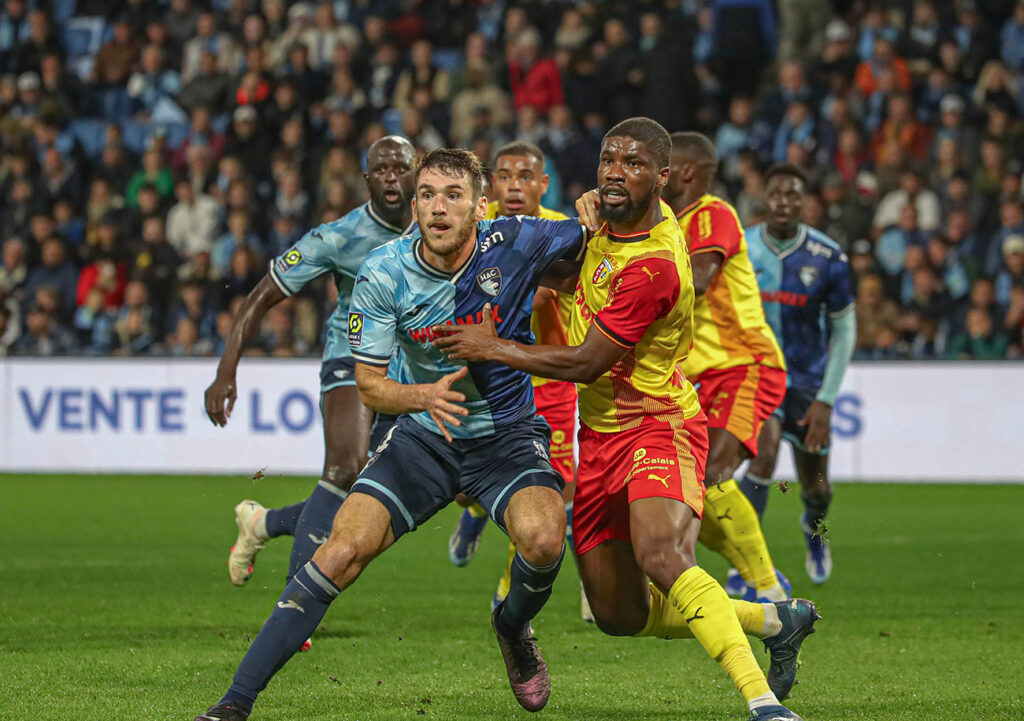
[[453,442],[401,416],[384,435],[349,494],[373,496],[391,513],[395,539],[414,531],[459,493],[476,499],[504,531],[505,509],[520,489],[561,493],[551,466],[551,429],[534,416],[482,438]]

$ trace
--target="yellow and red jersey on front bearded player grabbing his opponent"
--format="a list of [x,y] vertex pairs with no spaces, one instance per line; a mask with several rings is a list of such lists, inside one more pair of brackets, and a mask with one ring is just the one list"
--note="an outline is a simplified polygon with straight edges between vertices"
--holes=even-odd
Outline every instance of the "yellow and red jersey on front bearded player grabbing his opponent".
[[[664,211],[663,211],[664,212]],[[677,364],[689,352],[693,275],[683,235],[671,213],[630,237],[602,227],[587,246],[569,319],[569,342],[591,326],[628,352],[590,385],[581,385],[580,419],[609,433],[647,416],[692,418],[693,386]]]

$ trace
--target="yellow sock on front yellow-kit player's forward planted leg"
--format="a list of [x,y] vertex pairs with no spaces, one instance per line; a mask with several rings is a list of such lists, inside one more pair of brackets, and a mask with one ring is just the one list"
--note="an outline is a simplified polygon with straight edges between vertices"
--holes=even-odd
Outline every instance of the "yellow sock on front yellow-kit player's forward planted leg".
[[703,568],[693,566],[683,571],[669,589],[669,601],[743,698],[751,702],[771,693],[729,597]]

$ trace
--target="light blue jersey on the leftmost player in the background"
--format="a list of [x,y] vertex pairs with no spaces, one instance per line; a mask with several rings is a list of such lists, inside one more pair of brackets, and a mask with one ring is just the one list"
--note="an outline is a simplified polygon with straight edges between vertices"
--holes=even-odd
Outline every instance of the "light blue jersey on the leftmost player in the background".
[[327,322],[325,362],[351,355],[346,321],[359,265],[374,248],[410,232],[413,227],[413,223],[404,228],[391,225],[370,203],[364,203],[338,220],[309,230],[270,261],[270,278],[285,295],[294,295],[310,281],[334,273],[338,305]]

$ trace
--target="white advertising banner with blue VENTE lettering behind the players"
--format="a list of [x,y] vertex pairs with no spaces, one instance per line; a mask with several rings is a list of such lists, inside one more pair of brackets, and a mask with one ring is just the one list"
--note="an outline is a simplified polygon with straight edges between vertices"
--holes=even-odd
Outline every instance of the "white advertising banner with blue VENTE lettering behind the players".
[[[244,358],[226,428],[212,359],[0,360],[0,471],[318,475],[315,359]],[[854,364],[833,418],[842,480],[1024,482],[1024,363]],[[776,477],[792,477],[779,453]]]

